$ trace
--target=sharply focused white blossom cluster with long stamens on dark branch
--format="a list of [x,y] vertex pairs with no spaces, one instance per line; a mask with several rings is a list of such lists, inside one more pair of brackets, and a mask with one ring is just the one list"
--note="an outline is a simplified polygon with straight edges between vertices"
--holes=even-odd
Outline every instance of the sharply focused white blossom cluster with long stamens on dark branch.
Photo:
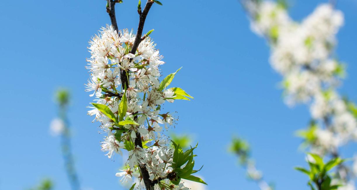
[[[90,96],[96,97],[96,105],[105,105],[104,111],[98,106],[88,111],[89,115],[95,115],[95,120],[101,122],[101,130],[107,133],[101,142],[102,151],[107,152],[110,159],[114,154],[122,154],[124,149],[128,151],[126,169],[116,176],[130,186],[136,181],[135,187],[144,189],[140,167],[149,172],[152,181],[165,179],[172,171],[174,149],[161,131],[174,124],[176,119],[169,112],[160,114],[160,105],[165,100],[174,102],[176,94],[171,89],[165,90],[166,86],[159,87],[159,66],[165,62],[161,61],[162,56],[149,37],[144,36],[135,54],[130,53],[135,37],[127,29],[118,34],[112,26],[106,26],[92,38],[91,58],[87,59],[90,79],[86,91],[93,91]],[[129,82],[122,84],[123,78]],[[106,107],[110,110],[105,110]],[[116,122],[118,118],[119,122]],[[172,184],[170,179],[162,180],[154,187],[187,189],[182,183]]]

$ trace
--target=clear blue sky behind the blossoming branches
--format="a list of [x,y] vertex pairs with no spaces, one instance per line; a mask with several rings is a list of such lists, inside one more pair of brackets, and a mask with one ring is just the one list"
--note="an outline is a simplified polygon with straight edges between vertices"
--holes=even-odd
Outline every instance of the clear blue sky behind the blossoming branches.
[[[327,1],[327,0],[326,0]],[[199,142],[197,167],[210,190],[258,190],[246,180],[236,158],[227,153],[233,134],[251,143],[252,156],[267,181],[277,190],[302,190],[307,177],[294,171],[305,165],[293,135],[309,120],[306,106],[283,104],[277,84],[281,77],[268,64],[265,41],[249,29],[237,0],[161,1],[147,16],[144,31],[165,56],[163,75],[176,71],[172,86],[185,89],[192,101],[165,104],[178,111],[176,133],[191,133]],[[291,0],[293,18],[301,20],[318,3]],[[85,58],[90,37],[109,17],[105,1],[1,1],[0,190],[22,190],[42,177],[55,181],[55,190],[69,185],[63,170],[59,138],[49,135],[56,117],[53,92],[66,86],[72,92],[70,120],[73,150],[83,187],[121,189],[115,172],[121,159],[111,161],[100,151],[98,123],[86,115],[91,97],[84,91],[88,73]],[[134,28],[136,0],[116,6],[119,28]],[[357,101],[357,1],[338,1],[345,26],[338,34],[338,57],[348,65],[341,93]],[[222,119],[225,121],[222,122]],[[351,157],[356,146],[343,149]]]

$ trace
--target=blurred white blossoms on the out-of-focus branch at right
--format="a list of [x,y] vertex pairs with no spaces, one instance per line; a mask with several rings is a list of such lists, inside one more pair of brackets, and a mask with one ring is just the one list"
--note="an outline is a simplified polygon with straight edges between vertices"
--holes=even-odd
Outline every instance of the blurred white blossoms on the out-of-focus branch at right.
[[[339,146],[357,140],[357,122],[349,102],[336,90],[343,65],[333,59],[335,35],[343,25],[343,14],[330,4],[319,5],[301,23],[293,21],[282,4],[246,0],[251,28],[271,45],[270,62],[284,78],[285,100],[310,105],[317,121],[312,151],[336,153]],[[324,126],[324,127],[322,127]]]

